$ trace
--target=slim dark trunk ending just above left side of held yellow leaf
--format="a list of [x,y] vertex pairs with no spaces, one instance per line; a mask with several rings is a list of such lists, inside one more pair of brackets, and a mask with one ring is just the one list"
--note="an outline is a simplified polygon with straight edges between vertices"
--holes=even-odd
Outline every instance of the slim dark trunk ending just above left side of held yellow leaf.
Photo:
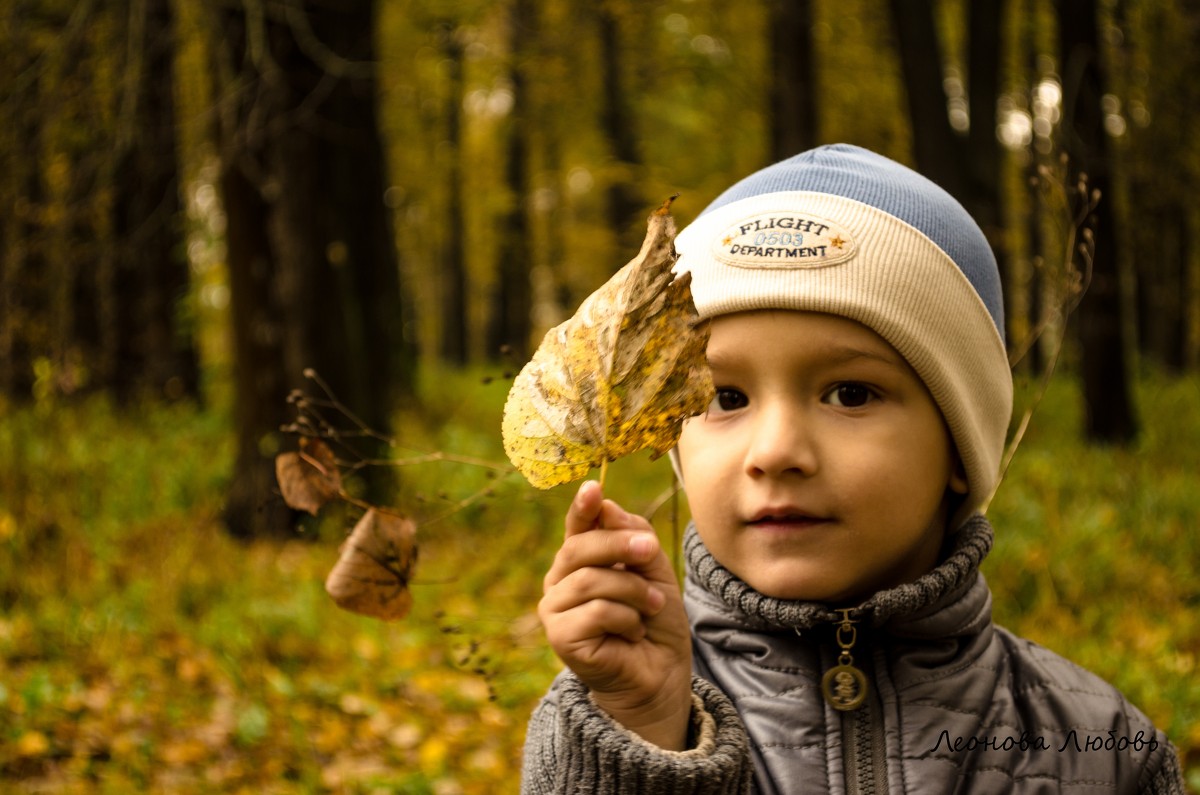
[[499,358],[511,351],[517,361],[529,353],[533,286],[529,270],[533,250],[529,246],[529,118],[527,73],[530,67],[526,42],[536,38],[534,4],[511,0],[509,8],[509,82],[512,86],[512,110],[509,114],[508,151],[504,181],[509,191],[508,211],[500,220],[496,292],[488,324],[487,352]]

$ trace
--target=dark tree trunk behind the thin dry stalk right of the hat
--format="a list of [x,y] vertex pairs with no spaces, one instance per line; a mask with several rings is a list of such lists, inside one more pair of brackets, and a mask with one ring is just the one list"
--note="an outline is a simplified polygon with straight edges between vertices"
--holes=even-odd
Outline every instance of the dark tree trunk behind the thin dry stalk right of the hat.
[[1079,306],[1085,430],[1088,440],[1123,443],[1138,431],[1126,366],[1117,228],[1112,211],[1110,142],[1100,97],[1106,92],[1099,60],[1096,0],[1057,0],[1063,76],[1063,143],[1074,175],[1087,174],[1100,192],[1092,215],[1096,253],[1092,282]]

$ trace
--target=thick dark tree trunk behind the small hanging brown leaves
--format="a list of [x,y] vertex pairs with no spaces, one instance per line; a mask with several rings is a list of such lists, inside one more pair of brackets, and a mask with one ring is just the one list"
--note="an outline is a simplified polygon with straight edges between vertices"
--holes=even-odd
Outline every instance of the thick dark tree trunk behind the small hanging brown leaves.
[[[264,22],[251,26],[240,8],[220,18],[233,97],[221,138],[240,450],[226,521],[240,536],[287,530],[274,477],[263,473],[280,448],[288,389],[313,391],[307,369],[380,434],[413,385],[409,311],[383,201],[374,4],[305,4]],[[246,220],[236,228],[235,213]],[[385,454],[370,438],[335,444],[349,459]],[[384,502],[390,473],[366,474],[366,498]]]

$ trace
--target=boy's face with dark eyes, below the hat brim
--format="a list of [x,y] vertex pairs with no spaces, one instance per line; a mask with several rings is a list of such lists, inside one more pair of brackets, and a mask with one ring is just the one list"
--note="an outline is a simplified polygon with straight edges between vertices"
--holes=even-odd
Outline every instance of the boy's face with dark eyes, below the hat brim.
[[679,437],[700,537],[760,593],[844,603],[937,562],[966,492],[941,412],[875,331],[833,315],[713,319],[716,399]]

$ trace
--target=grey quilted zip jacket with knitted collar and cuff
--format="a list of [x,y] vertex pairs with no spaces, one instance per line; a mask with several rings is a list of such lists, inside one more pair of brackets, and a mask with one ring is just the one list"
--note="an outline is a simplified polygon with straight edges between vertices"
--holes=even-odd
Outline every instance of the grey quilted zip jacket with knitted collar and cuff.
[[1174,747],[1112,686],[992,623],[991,540],[976,516],[929,574],[832,610],[757,593],[689,530],[694,747],[625,731],[565,671],[522,791],[1183,795]]

